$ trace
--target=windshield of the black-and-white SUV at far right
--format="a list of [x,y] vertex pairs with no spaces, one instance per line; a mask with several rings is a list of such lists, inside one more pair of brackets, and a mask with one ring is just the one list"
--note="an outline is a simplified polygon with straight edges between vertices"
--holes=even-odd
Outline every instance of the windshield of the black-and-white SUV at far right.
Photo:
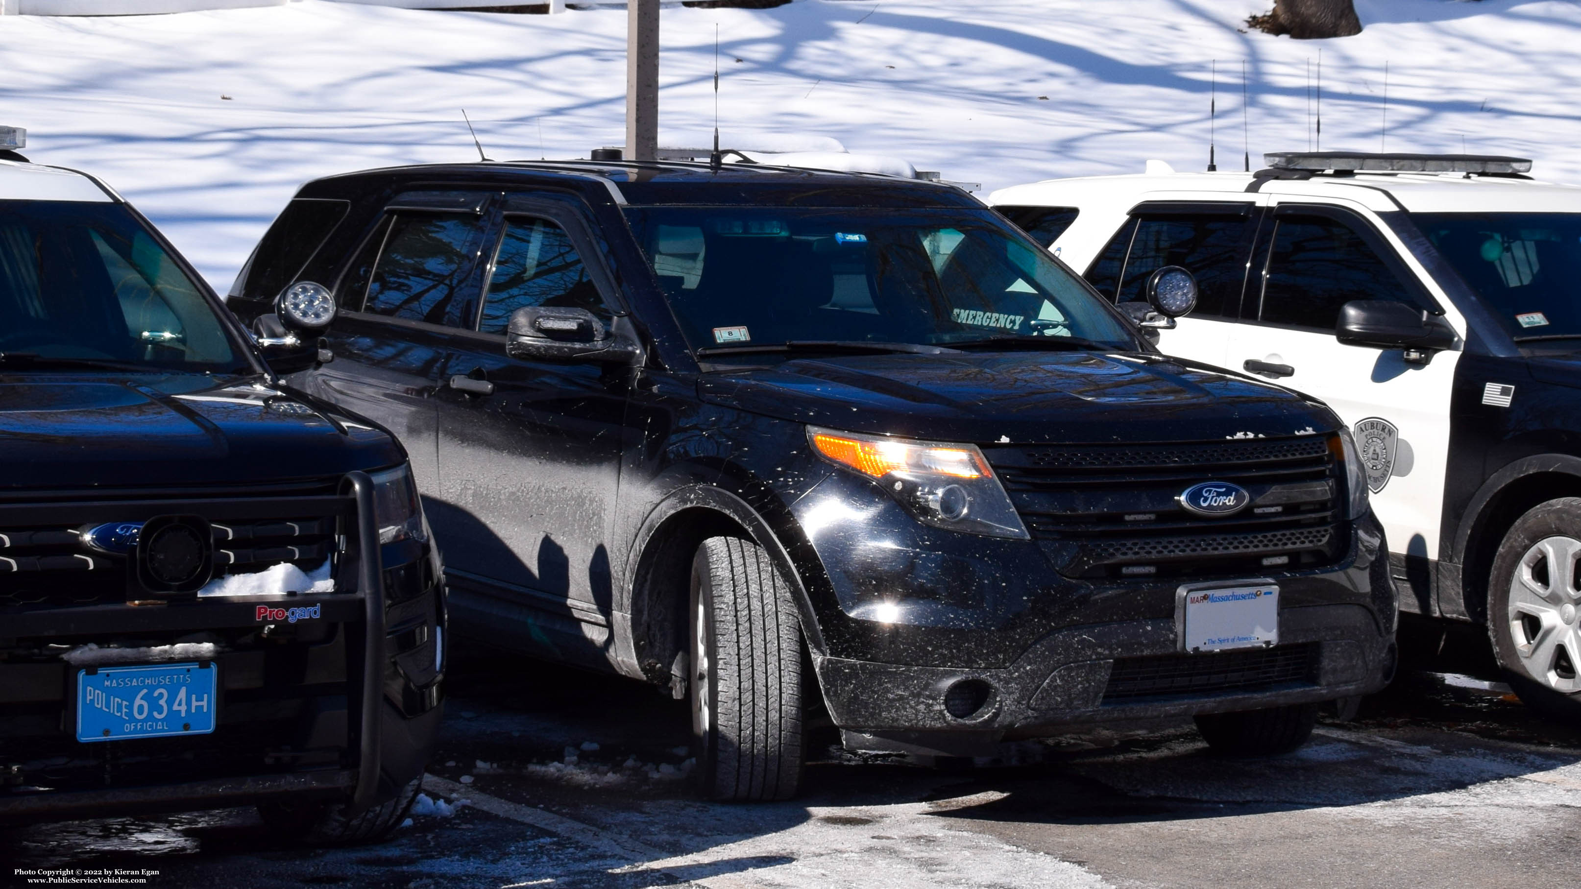
[[1412,214],[1515,342],[1581,343],[1581,214]]

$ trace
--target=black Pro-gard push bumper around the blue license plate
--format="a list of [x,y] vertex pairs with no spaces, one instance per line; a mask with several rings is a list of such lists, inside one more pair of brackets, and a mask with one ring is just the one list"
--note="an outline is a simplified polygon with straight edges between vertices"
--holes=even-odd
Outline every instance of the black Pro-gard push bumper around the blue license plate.
[[[213,522],[334,516],[334,593],[112,603],[5,615],[0,823],[177,811],[274,797],[365,808],[422,774],[438,736],[444,592],[428,544],[379,544],[372,479],[300,497],[8,505],[8,524],[141,522],[182,509]],[[108,513],[106,513],[108,509]],[[106,519],[109,516],[109,519]],[[266,626],[280,606],[311,620]],[[220,639],[213,734],[81,743],[77,668],[40,652],[95,642]],[[207,666],[207,664],[204,664]],[[92,775],[90,775],[92,774]],[[92,777],[85,781],[84,777]]]

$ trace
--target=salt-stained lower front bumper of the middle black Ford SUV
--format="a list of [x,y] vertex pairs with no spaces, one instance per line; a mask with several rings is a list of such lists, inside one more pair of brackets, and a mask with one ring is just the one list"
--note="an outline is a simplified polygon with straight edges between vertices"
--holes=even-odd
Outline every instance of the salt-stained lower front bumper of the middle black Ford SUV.
[[[1047,737],[1083,726],[1148,723],[1217,713],[1333,701],[1383,688],[1393,674],[1394,639],[1372,614],[1355,604],[1287,607],[1279,615],[1279,645],[1271,663],[1295,671],[1270,671],[1235,652],[1181,655],[1172,619],[1067,626],[1048,634],[1002,669],[952,669],[887,664],[849,658],[814,658],[824,701],[852,750],[985,755],[1001,740]],[[1289,655],[1301,653],[1301,661]],[[1130,669],[1159,664],[1162,677],[1121,687],[1116,664]],[[1217,661],[1216,661],[1217,658]],[[1227,664],[1217,688],[1168,688],[1183,675],[1209,679],[1208,668]],[[1170,671],[1184,664],[1186,669]],[[1195,668],[1203,669],[1195,669]],[[1233,666],[1230,666],[1233,664]],[[1258,682],[1258,669],[1270,682]],[[1236,683],[1240,677],[1243,682]],[[952,715],[947,696],[963,682],[985,683],[980,710]],[[1184,682],[1190,682],[1186,679]],[[882,690],[874,694],[873,690]],[[1140,693],[1138,693],[1140,691]]]

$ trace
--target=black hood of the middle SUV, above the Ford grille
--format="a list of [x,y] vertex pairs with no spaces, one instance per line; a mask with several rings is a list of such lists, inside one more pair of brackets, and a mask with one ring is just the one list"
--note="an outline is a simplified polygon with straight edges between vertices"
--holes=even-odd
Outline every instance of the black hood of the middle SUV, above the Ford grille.
[[707,402],[939,441],[1105,443],[1330,432],[1320,402],[1151,354],[877,354],[708,373]]

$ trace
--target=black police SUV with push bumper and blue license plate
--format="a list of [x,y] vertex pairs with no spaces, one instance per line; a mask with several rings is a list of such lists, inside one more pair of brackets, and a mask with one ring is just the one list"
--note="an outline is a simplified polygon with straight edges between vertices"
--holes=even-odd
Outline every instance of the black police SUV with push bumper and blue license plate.
[[0,160],[0,823],[359,842],[416,796],[446,614],[406,454],[250,339],[114,191]]

